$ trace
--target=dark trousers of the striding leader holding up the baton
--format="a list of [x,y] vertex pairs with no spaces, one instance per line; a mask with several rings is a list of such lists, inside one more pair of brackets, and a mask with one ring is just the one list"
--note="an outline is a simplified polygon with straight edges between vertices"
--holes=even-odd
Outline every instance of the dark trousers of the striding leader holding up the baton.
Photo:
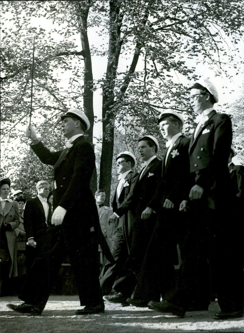
[[54,246],[49,252],[34,260],[19,298],[28,304],[44,308],[67,251],[76,279],[80,304],[102,304],[98,248],[95,251],[94,245],[91,245],[90,228],[89,233],[86,233],[83,230],[73,230],[71,225],[63,223],[51,238]]

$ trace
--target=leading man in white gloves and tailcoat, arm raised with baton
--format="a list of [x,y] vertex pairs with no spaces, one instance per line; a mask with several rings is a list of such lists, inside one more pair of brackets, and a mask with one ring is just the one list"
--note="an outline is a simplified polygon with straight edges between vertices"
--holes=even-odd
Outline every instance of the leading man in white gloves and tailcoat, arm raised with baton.
[[[50,230],[55,239],[52,249],[35,259],[25,280],[19,298],[25,303],[9,305],[21,313],[41,314],[52,290],[55,277],[64,260],[66,250],[76,278],[80,304],[84,309],[75,314],[104,312],[99,284],[98,252],[91,246],[90,229],[98,232],[99,218],[96,202],[90,189],[95,167],[95,154],[84,138],[90,123],[78,109],[68,111],[62,120],[62,131],[68,139],[67,148],[50,152],[29,126],[26,135],[32,140],[31,148],[45,164],[54,166],[54,203]],[[33,282],[34,281],[34,282]]]

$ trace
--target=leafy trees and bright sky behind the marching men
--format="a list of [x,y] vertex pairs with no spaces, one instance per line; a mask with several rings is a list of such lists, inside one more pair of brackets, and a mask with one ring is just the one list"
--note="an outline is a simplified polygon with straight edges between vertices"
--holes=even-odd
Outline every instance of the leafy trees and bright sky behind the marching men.
[[[195,115],[185,83],[198,79],[199,64],[206,73],[228,79],[229,68],[237,75],[242,64],[237,48],[243,40],[242,1],[1,1],[0,6],[1,176],[10,175],[13,187],[30,196],[37,180],[52,179],[51,168],[29,151],[24,136],[33,35],[32,124],[42,141],[58,150],[64,145],[60,115],[67,110],[84,109],[92,125],[87,133],[92,144],[93,126],[102,121],[103,132],[96,141],[99,179],[95,173],[92,188],[105,188],[107,198],[116,182],[113,165],[118,152],[130,150],[138,158],[138,137],[151,134],[163,156],[164,141],[156,123],[161,111],[181,113],[184,134],[190,135]],[[107,68],[96,79],[93,59],[107,59]],[[102,92],[101,119],[94,116],[97,91]],[[235,110],[243,113],[241,103],[225,108],[234,121]],[[235,145],[243,159],[243,126],[236,125]]]

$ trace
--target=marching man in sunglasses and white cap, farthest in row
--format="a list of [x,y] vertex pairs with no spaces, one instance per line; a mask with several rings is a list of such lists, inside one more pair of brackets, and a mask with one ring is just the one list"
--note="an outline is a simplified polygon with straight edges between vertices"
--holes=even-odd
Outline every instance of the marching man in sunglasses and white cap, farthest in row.
[[138,176],[137,172],[132,171],[135,165],[136,159],[132,153],[125,151],[117,156],[116,166],[119,182],[112,197],[113,214],[110,216],[110,223],[115,224],[112,255],[116,262],[114,264],[107,262],[100,275],[100,285],[104,295],[110,293],[121,265],[124,264],[129,255],[134,223],[134,216],[129,206]]

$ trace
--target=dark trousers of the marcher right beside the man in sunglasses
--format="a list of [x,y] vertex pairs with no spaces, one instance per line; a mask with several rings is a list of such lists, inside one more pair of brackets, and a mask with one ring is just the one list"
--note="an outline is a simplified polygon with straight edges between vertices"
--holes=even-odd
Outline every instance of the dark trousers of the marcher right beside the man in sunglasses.
[[134,221],[129,257],[117,276],[113,289],[130,297],[140,272],[145,251],[155,226],[156,216],[147,220],[139,217]]

